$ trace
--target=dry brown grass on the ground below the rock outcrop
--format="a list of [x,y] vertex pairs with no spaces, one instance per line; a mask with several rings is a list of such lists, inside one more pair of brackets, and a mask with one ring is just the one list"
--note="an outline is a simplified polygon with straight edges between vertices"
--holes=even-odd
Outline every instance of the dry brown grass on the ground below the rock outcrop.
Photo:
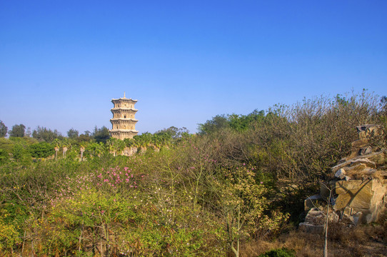
[[[323,256],[323,241],[323,234],[294,230],[282,234],[274,241],[256,240],[245,243],[241,256],[259,256],[282,247],[295,250],[297,256]],[[355,228],[331,223],[328,229],[328,256],[387,256],[387,213],[381,216],[378,223]]]

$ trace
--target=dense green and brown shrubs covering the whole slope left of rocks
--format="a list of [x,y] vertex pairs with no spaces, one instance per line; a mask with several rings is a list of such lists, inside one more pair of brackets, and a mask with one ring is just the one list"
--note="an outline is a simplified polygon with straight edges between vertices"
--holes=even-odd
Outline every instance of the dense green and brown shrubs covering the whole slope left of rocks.
[[[49,129],[12,132],[0,138],[0,252],[240,256],[301,221],[303,199],[350,153],[356,126],[386,131],[386,100],[368,91],[321,96],[218,115],[197,134],[171,127],[125,141],[106,128],[46,139],[39,134]],[[386,133],[373,144],[386,147]],[[69,152],[32,161],[55,146]],[[144,151],[119,156],[131,146]]]

